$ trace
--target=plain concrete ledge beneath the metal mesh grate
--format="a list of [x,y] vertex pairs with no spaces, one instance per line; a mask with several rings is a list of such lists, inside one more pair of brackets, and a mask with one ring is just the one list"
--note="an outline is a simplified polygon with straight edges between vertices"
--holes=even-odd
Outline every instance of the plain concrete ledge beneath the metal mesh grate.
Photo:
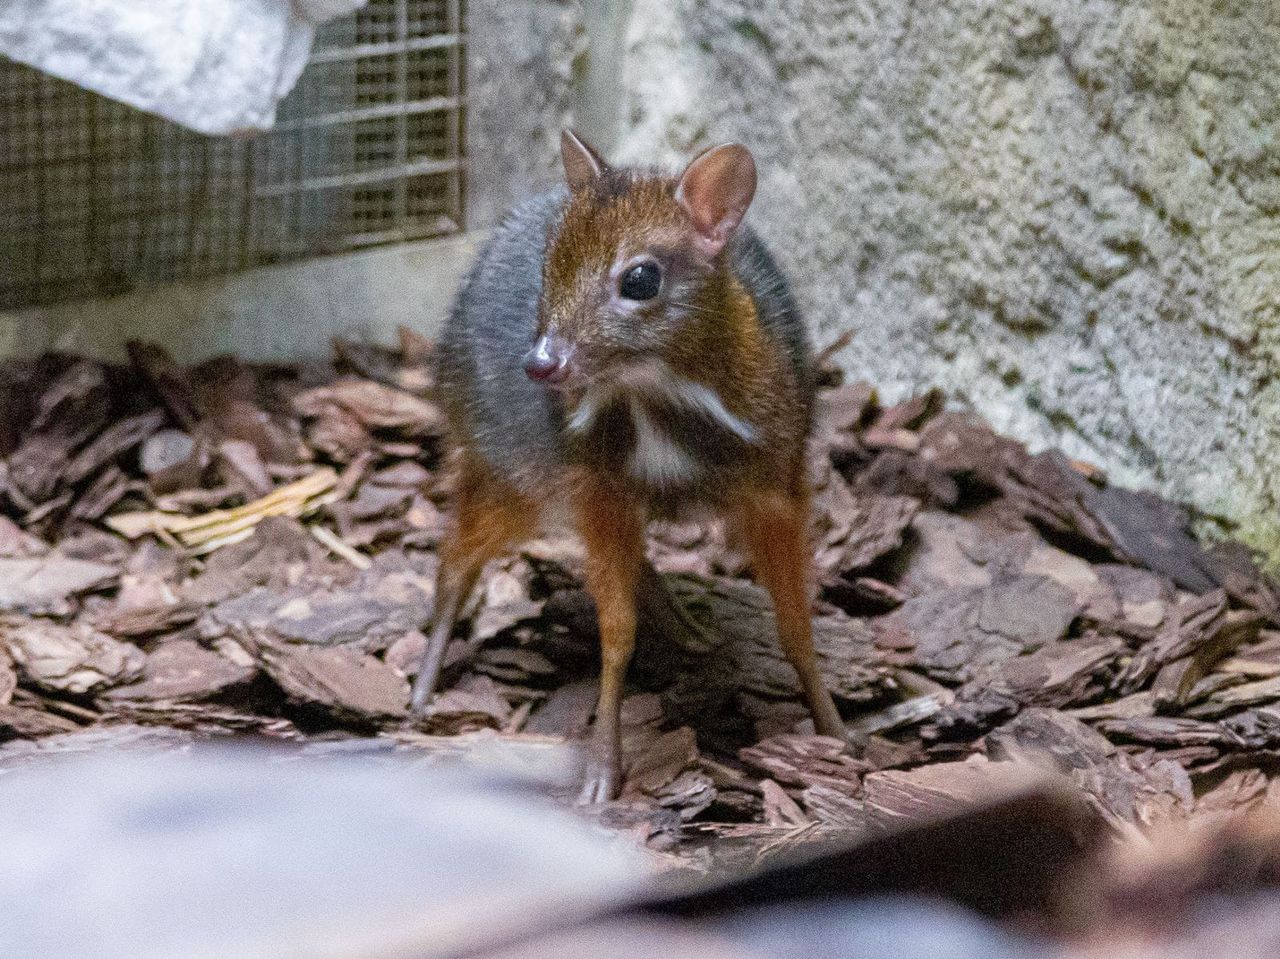
[[0,357],[65,350],[124,357],[129,339],[183,362],[326,356],[334,335],[389,342],[398,325],[433,335],[483,237],[364,250],[124,296],[0,312]]

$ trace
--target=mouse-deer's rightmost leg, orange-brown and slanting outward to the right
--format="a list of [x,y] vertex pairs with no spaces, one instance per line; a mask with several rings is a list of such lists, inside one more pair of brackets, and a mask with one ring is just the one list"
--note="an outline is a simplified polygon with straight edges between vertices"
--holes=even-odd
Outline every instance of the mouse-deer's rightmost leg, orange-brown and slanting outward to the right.
[[782,490],[746,492],[739,507],[737,528],[756,577],[773,597],[778,641],[800,679],[814,727],[824,736],[847,739],[813,650],[808,496]]

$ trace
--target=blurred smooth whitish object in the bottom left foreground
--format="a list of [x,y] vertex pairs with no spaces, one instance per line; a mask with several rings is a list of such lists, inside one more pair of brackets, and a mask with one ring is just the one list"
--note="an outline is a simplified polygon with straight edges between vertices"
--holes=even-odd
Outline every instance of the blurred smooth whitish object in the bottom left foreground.
[[509,778],[256,748],[0,776],[0,955],[456,955],[599,912],[639,859]]

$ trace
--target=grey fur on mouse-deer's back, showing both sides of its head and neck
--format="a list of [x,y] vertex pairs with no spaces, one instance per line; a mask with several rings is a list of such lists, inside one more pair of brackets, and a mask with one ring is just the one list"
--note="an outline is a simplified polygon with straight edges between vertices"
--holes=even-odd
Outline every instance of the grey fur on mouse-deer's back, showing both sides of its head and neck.
[[[442,339],[440,394],[453,429],[521,489],[536,489],[563,462],[558,397],[532,383],[522,361],[538,326],[548,237],[567,198],[562,186],[507,214],[463,280]],[[791,357],[809,406],[809,343],[786,278],[750,227],[739,230],[728,256],[762,326]]]

